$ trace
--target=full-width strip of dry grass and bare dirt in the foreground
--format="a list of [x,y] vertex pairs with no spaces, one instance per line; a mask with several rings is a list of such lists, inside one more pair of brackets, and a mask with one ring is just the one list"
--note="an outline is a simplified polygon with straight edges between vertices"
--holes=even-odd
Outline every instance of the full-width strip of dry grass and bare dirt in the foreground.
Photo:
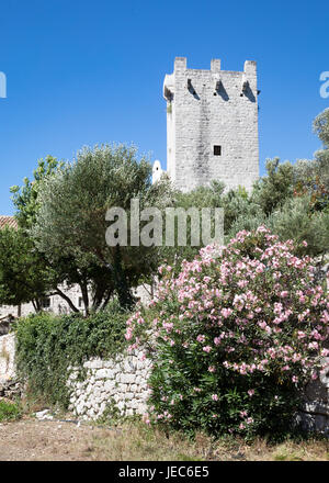
[[190,441],[180,434],[167,438],[143,423],[100,427],[29,416],[0,423],[1,461],[328,461],[329,441],[286,441],[269,446],[264,439],[247,445],[232,437],[213,441],[198,434]]

